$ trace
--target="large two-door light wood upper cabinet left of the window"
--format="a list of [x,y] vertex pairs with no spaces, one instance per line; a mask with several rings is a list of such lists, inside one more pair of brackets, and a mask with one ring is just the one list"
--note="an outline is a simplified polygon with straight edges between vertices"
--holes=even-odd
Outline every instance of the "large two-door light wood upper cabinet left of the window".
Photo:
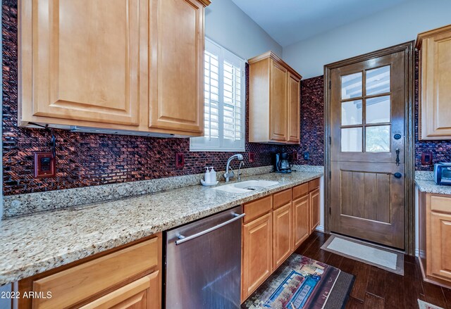
[[19,125],[202,135],[208,4],[19,1]]

